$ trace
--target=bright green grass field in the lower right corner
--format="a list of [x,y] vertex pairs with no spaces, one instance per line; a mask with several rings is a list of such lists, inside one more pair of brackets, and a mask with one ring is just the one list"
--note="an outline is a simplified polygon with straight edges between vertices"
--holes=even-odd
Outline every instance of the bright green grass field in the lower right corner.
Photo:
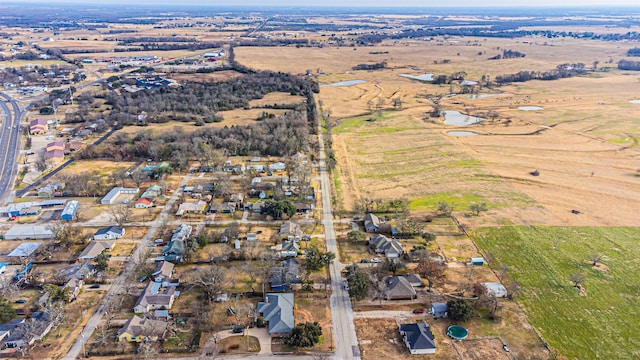
[[[518,302],[551,347],[570,359],[640,356],[640,229],[624,227],[481,228],[474,238],[522,286]],[[554,250],[556,239],[558,250]],[[593,267],[592,254],[602,255]],[[569,281],[581,273],[585,292]]]

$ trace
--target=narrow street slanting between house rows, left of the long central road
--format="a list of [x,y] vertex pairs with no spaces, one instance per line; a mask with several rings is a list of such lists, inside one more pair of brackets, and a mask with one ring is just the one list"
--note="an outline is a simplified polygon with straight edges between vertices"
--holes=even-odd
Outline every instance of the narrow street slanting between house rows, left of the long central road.
[[[182,183],[180,183],[178,190],[176,190],[173,193],[173,195],[167,202],[167,205],[164,207],[164,209],[160,213],[160,215],[156,218],[156,220],[151,222],[151,227],[149,228],[149,231],[142,239],[142,242],[140,243],[140,245],[138,245],[134,253],[131,255],[132,260],[138,260],[141,258],[142,253],[146,251],[146,249],[148,248],[149,242],[151,241],[151,239],[154,238],[154,235],[156,234],[156,232],[158,232],[158,229],[160,229],[160,227],[162,227],[162,225],[164,225],[164,223],[166,222],[167,214],[169,210],[173,207],[173,204],[180,198],[180,195],[182,194],[183,185],[185,185],[187,181],[190,179],[191,178],[188,176],[184,178]],[[129,274],[131,274],[133,267],[135,266],[134,263],[135,261],[129,261],[128,263],[126,263],[124,269],[122,270],[122,273],[120,273],[120,276],[118,276],[113,281],[113,283],[111,284],[111,287],[109,288],[109,291],[104,296],[104,298],[102,298],[102,302],[98,306],[96,312],[91,316],[91,318],[89,318],[89,321],[87,321],[87,324],[84,326],[84,328],[82,328],[82,331],[80,332],[80,336],[76,339],[76,342],[73,343],[73,346],[71,347],[67,355],[65,355],[65,357],[63,357],[62,359],[74,360],[78,358],[78,356],[82,352],[83,342],[85,340],[88,340],[89,337],[91,337],[91,334],[93,333],[93,331],[96,329],[96,327],[98,327],[98,325],[100,324],[100,321],[102,321],[102,316],[104,315],[104,310],[108,302],[111,301],[111,299],[118,297],[119,294],[122,293],[124,284],[127,281],[130,281],[129,279],[127,279],[127,277],[129,276]]]

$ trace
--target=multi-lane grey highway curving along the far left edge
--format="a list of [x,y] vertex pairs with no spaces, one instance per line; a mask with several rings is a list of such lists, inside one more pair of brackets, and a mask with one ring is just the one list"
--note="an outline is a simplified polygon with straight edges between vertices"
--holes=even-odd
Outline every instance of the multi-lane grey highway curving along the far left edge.
[[20,120],[24,113],[9,95],[0,92],[2,128],[0,128],[0,204],[11,197],[20,153]]

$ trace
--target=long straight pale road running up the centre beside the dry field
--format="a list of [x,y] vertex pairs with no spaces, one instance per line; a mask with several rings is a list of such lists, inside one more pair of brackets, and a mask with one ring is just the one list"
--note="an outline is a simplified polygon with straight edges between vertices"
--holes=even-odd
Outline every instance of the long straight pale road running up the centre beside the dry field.
[[[324,140],[322,127],[318,123],[318,139],[320,141],[320,183],[322,185],[322,224],[324,225],[327,251],[338,254],[336,234],[333,229],[333,214],[331,213],[331,187],[329,173],[325,161]],[[329,271],[331,273],[331,317],[333,319],[333,335],[335,337],[335,359],[360,359],[358,338],[353,323],[353,308],[349,293],[343,288],[342,269],[344,265],[335,259]]]

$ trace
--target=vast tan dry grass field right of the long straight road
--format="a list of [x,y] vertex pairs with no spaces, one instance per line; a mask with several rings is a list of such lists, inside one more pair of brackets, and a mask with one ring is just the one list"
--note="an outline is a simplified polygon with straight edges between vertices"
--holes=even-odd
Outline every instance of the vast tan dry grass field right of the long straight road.
[[[473,46],[477,44],[477,46]],[[513,49],[526,58],[487,60]],[[374,55],[373,51],[388,51]],[[484,52],[482,55],[478,53]],[[238,48],[240,62],[293,73],[324,72],[321,83],[365,80],[355,86],[321,87],[323,110],[330,110],[334,150],[338,157],[342,206],[353,209],[363,197],[407,198],[414,210],[432,210],[439,200],[466,211],[486,202],[487,215],[466,218],[470,224],[638,225],[635,208],[640,188],[640,82],[615,69],[557,81],[531,81],[482,89],[503,94],[481,99],[444,97],[443,110],[495,120],[464,127],[480,136],[447,135],[460,127],[426,114],[433,108],[426,94],[459,91],[458,85],[431,85],[401,73],[450,74],[465,71],[480,80],[520,70],[551,70],[562,63],[609,57],[619,59],[626,47],[586,40],[459,39],[457,42],[383,44],[373,48],[290,49]],[[459,54],[459,55],[458,55]],[[304,59],[305,61],[294,61]],[[451,64],[434,64],[450,59]],[[360,63],[387,61],[379,71],[353,71]],[[607,65],[609,66],[609,65]],[[419,70],[415,70],[419,68]],[[423,96],[416,96],[423,95]],[[391,99],[400,98],[402,109]],[[379,99],[384,111],[374,112]],[[370,109],[371,102],[373,109]],[[520,106],[544,110],[522,111]],[[366,121],[375,118],[375,121]],[[538,169],[540,176],[528,173]],[[574,215],[570,210],[582,212]]]

